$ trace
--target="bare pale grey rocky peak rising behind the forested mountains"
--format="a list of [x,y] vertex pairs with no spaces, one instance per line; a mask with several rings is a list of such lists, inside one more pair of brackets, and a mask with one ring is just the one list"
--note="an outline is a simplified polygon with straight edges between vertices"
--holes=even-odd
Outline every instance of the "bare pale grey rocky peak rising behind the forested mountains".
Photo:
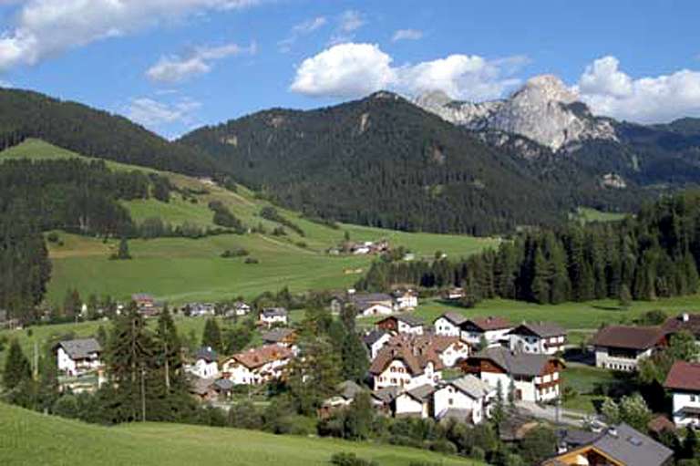
[[510,98],[502,100],[461,102],[433,91],[415,103],[468,129],[520,134],[554,151],[581,140],[617,140],[610,120],[594,117],[560,78],[551,75],[530,78]]

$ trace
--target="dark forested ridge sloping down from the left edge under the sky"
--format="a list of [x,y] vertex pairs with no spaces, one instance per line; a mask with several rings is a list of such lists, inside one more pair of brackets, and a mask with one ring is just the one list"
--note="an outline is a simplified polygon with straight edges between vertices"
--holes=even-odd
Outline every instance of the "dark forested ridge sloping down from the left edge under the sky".
[[215,161],[124,117],[38,92],[0,88],[0,149],[39,138],[90,157],[191,175],[213,175]]

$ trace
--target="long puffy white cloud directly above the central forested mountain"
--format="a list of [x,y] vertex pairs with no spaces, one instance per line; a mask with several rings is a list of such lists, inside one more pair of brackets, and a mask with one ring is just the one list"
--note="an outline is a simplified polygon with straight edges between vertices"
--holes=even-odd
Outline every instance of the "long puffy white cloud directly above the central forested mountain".
[[[362,97],[390,88],[411,94],[442,90],[452,98],[498,98],[520,80],[503,67],[510,61],[451,55],[433,61],[392,66],[393,59],[372,44],[340,44],[306,58],[290,89],[313,97]],[[503,65],[501,65],[501,63]]]

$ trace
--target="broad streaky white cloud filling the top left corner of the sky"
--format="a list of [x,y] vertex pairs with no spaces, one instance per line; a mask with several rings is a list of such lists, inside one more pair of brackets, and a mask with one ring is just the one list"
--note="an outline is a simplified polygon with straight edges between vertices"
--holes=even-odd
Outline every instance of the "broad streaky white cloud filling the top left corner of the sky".
[[0,36],[0,69],[34,65],[71,47],[262,0],[26,0]]

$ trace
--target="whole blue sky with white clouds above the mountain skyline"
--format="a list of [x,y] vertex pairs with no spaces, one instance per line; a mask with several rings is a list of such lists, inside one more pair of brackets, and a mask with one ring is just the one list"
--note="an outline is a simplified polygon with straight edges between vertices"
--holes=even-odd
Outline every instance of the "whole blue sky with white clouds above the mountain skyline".
[[599,114],[700,117],[693,1],[0,0],[0,80],[167,137],[389,88],[507,96],[559,76]]

